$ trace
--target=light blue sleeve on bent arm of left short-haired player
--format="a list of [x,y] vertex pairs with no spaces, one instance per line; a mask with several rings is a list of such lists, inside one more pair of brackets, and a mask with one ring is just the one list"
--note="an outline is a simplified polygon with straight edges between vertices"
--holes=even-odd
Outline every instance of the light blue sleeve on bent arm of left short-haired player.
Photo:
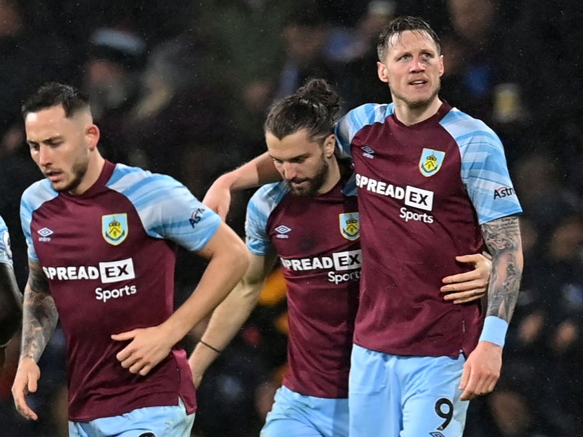
[[117,164],[108,187],[135,206],[146,233],[197,252],[213,238],[221,218],[170,176]]

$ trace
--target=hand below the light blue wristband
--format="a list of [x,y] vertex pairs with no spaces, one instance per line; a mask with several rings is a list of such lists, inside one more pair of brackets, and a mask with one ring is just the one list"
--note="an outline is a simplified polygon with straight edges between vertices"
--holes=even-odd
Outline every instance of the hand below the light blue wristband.
[[464,392],[461,399],[470,400],[492,392],[500,378],[500,369],[502,369],[502,347],[489,341],[478,342],[464,364],[462,383],[460,383],[460,389]]

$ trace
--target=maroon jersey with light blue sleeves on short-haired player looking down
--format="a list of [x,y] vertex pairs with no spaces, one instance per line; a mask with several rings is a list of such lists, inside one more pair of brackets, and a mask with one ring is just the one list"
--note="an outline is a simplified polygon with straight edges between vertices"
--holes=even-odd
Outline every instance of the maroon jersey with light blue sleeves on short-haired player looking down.
[[28,257],[38,262],[66,336],[69,419],[178,405],[195,411],[186,352],[175,346],[147,376],[123,369],[128,342],[110,336],[164,322],[173,312],[176,247],[200,250],[220,219],[174,179],[108,161],[88,191],[49,181],[23,193]]

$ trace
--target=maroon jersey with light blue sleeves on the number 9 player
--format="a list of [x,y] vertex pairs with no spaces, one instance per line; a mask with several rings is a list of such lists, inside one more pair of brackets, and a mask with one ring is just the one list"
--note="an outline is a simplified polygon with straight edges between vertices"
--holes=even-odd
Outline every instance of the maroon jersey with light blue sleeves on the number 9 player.
[[442,278],[470,270],[455,256],[480,253],[480,225],[522,212],[502,143],[482,121],[443,103],[406,126],[393,103],[366,104],[337,124],[355,165],[362,283],[355,343],[398,355],[471,352],[480,301],[444,301]]

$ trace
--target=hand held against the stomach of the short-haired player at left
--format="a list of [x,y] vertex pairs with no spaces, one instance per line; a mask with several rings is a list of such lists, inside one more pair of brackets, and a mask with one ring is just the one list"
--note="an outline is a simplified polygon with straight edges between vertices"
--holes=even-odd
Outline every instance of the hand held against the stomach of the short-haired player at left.
[[113,334],[111,338],[115,341],[130,341],[115,357],[121,367],[141,376],[146,376],[172,349],[172,345],[168,344],[168,335],[157,326]]

